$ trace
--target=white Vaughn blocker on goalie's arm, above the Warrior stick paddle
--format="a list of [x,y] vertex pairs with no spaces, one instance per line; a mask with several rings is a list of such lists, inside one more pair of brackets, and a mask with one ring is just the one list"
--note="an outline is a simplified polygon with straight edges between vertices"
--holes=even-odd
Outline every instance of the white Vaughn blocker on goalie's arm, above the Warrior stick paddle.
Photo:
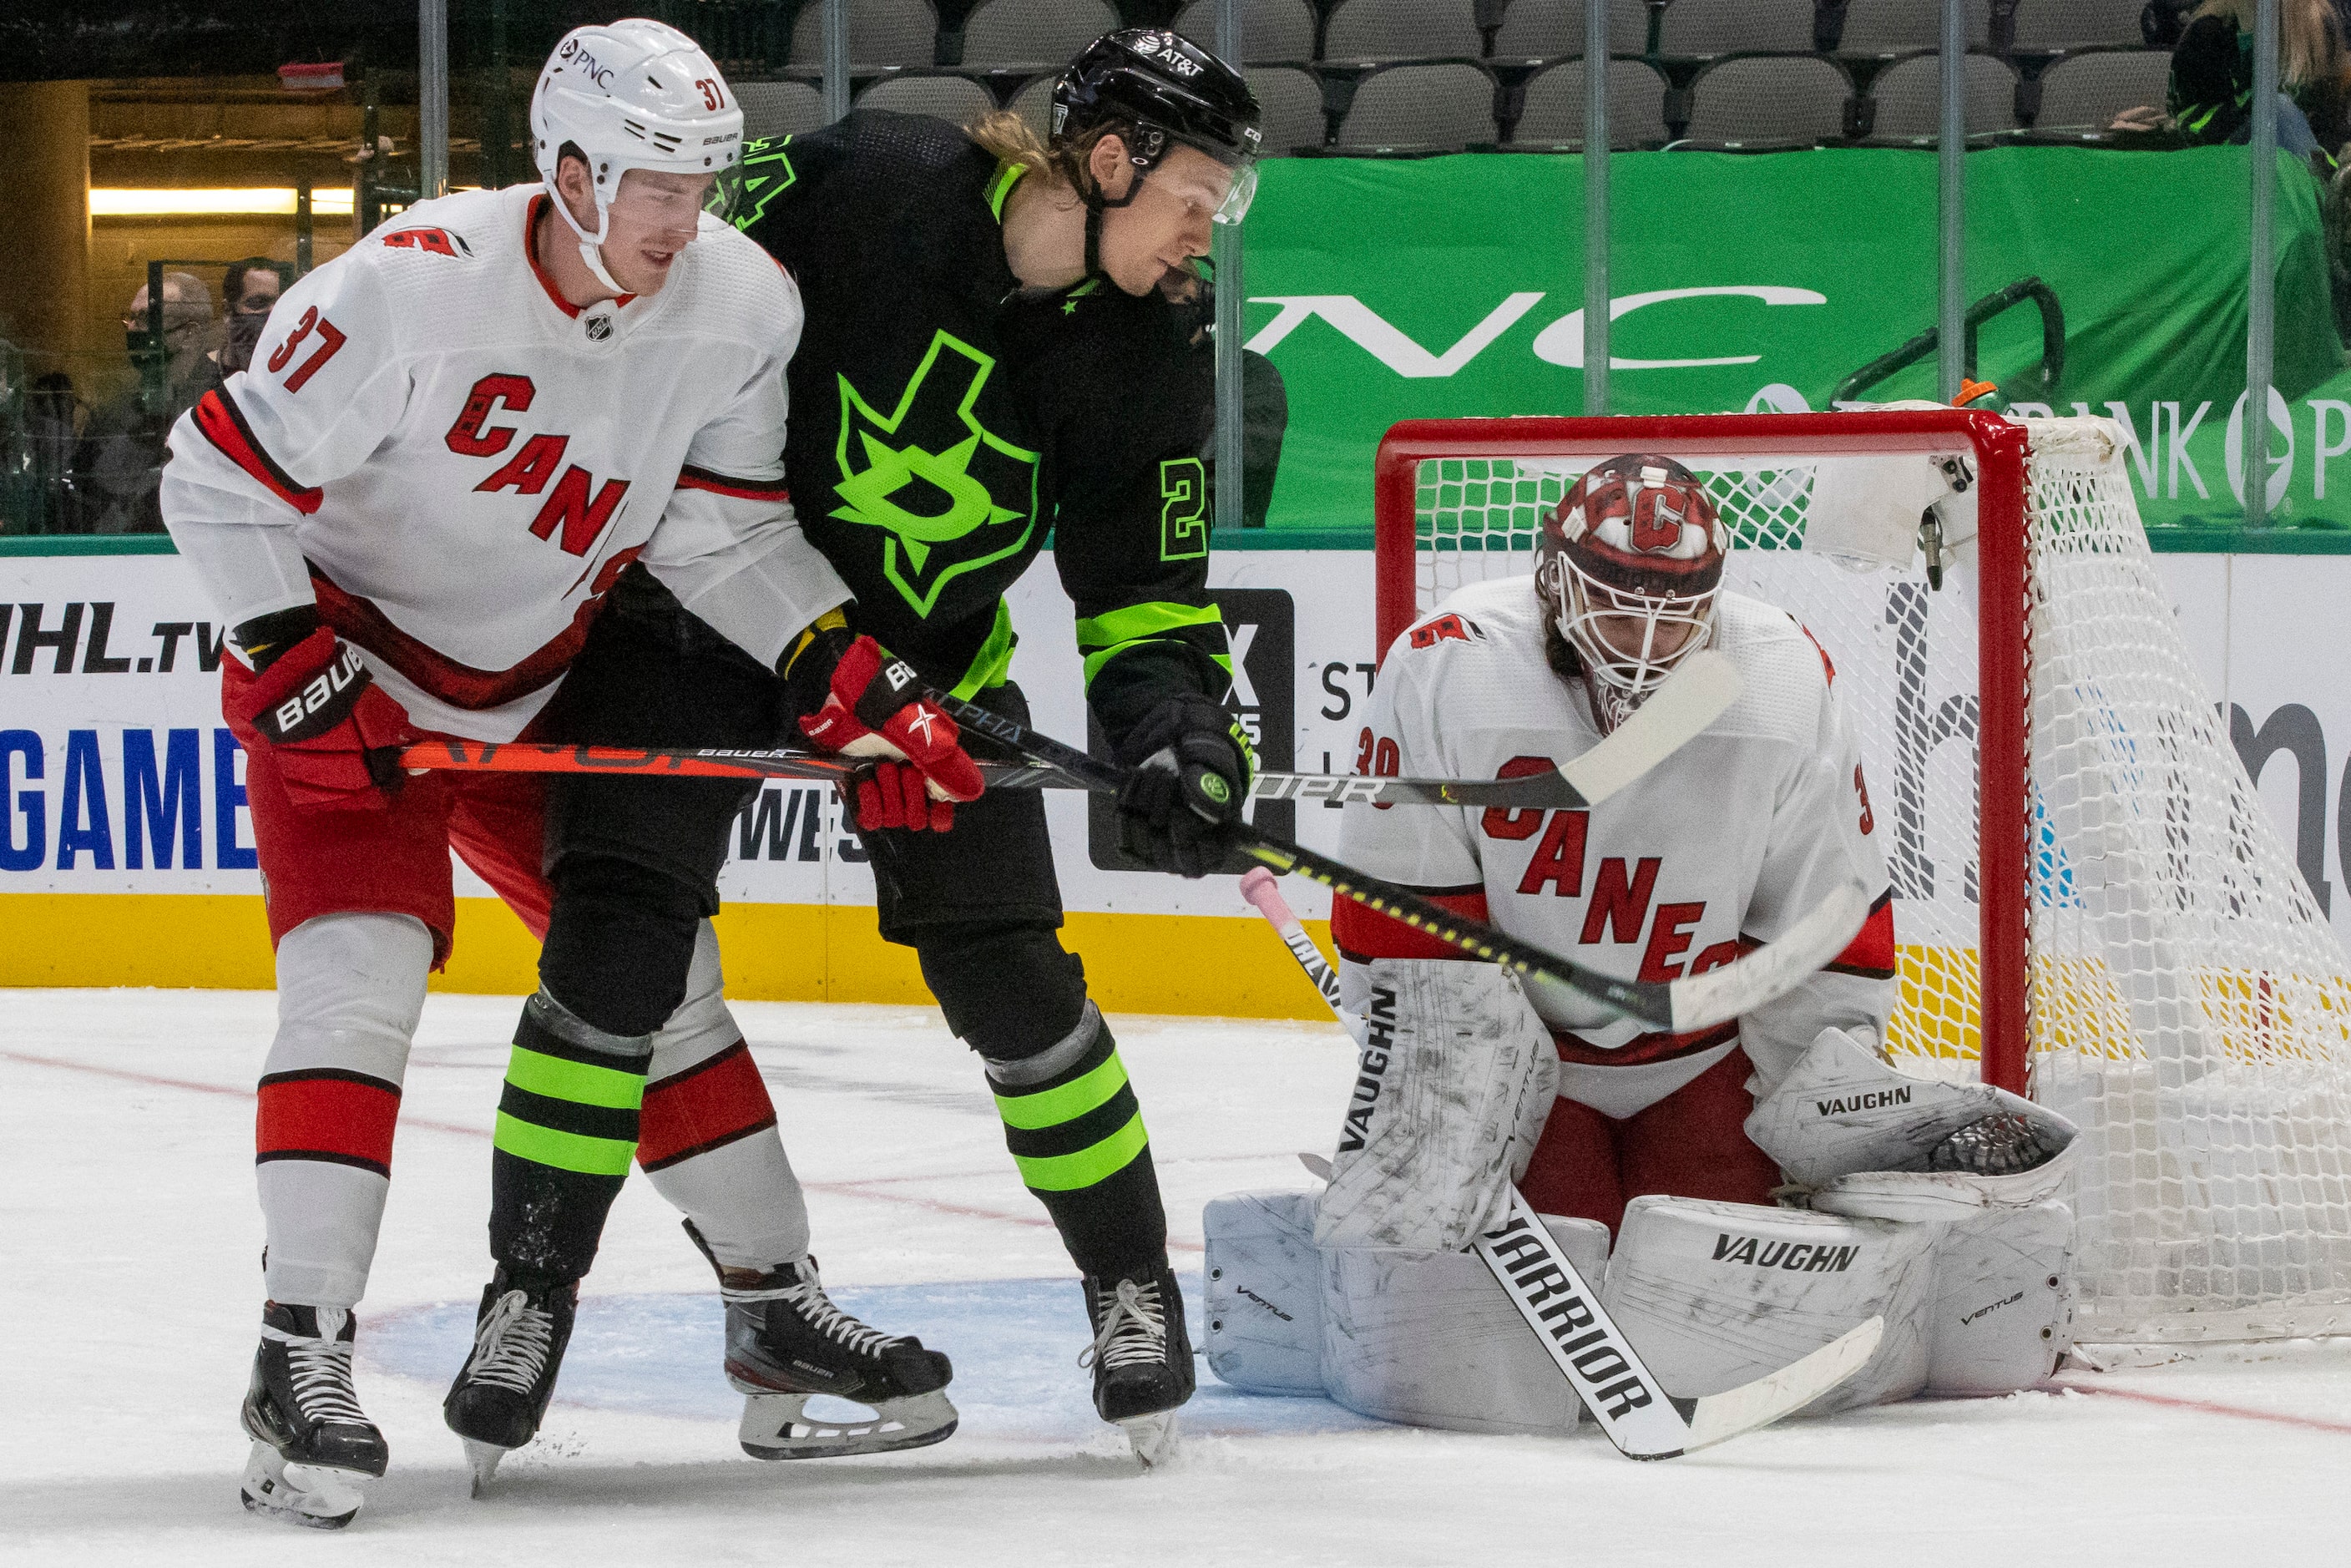
[[1378,959],[1314,1241],[1458,1253],[1526,1171],[1559,1048],[1493,964]]

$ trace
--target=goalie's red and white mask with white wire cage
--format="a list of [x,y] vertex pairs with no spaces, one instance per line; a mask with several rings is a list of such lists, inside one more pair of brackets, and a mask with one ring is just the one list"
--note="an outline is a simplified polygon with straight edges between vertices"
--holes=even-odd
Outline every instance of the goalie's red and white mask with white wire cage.
[[1730,534],[1672,458],[1594,463],[1542,520],[1535,592],[1575,649],[1601,733],[1714,637]]

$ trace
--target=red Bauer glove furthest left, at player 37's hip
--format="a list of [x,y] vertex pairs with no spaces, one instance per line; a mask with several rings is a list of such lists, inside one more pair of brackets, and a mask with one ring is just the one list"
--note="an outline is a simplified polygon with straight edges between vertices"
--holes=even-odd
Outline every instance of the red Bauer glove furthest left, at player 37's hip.
[[400,748],[421,736],[383,696],[360,651],[317,628],[259,675],[221,663],[221,715],[247,750],[268,750],[287,799],[317,811],[383,811]]

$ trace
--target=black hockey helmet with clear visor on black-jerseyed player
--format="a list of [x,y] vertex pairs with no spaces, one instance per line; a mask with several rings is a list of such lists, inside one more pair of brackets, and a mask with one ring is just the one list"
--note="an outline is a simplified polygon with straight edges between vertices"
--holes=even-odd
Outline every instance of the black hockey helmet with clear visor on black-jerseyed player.
[[1121,28],[1086,45],[1053,82],[1051,139],[1067,143],[1103,122],[1133,127],[1121,139],[1138,174],[1150,174],[1168,143],[1199,148],[1232,169],[1218,223],[1239,223],[1248,212],[1258,188],[1258,96],[1239,71],[1190,38]]

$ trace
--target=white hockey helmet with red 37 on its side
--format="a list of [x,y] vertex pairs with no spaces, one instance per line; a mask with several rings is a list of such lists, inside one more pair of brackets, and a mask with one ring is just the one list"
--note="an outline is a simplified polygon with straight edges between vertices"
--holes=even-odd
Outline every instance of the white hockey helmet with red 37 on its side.
[[[595,176],[595,233],[555,188],[555,165],[576,146]],[[571,28],[531,89],[531,153],[555,212],[581,237],[581,259],[607,289],[600,244],[630,169],[724,174],[743,158],[743,108],[703,47],[677,28],[630,16]]]

